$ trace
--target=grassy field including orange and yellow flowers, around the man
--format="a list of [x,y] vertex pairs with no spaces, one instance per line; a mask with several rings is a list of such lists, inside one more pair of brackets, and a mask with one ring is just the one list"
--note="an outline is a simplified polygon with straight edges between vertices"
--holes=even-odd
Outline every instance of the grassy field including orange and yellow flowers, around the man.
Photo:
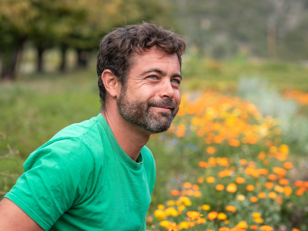
[[[307,230],[308,69],[189,56],[182,72],[179,115],[169,132],[147,144],[157,169],[149,228]],[[65,126],[100,112],[96,79],[92,66],[0,83],[2,196],[31,152]],[[286,99],[286,90],[300,94]]]

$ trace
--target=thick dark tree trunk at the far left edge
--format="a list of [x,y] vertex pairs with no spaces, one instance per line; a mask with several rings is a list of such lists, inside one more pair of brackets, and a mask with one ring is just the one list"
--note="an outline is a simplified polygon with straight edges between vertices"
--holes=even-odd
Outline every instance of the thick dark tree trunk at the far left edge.
[[10,44],[10,48],[7,48],[2,52],[1,59],[1,79],[14,80],[16,63],[18,61],[18,53],[22,51],[22,46],[26,41],[26,36],[19,37],[15,40],[15,44]]

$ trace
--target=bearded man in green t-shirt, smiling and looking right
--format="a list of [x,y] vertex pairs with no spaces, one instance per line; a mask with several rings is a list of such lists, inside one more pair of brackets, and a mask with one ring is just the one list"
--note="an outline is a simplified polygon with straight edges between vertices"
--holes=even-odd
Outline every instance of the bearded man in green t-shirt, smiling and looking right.
[[179,35],[154,24],[107,34],[97,57],[102,112],[31,153],[0,202],[0,230],[144,230],[155,163],[144,145],[180,104]]

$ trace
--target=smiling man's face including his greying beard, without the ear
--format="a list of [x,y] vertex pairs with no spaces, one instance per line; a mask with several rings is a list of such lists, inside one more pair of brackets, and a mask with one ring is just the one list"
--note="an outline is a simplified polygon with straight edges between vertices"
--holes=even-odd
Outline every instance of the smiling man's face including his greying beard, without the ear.
[[117,100],[124,119],[150,133],[167,131],[179,110],[180,63],[176,54],[151,47],[136,54]]

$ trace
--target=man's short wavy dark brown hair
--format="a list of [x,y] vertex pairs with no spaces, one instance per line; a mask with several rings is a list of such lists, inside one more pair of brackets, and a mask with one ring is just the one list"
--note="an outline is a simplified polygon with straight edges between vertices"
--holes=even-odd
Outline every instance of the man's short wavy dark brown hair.
[[161,26],[144,22],[140,25],[116,28],[103,37],[96,65],[102,107],[106,96],[106,89],[101,78],[103,71],[111,70],[125,88],[128,72],[133,65],[133,52],[142,54],[145,49],[153,46],[167,54],[176,54],[181,67],[181,55],[186,49],[185,41],[179,34],[165,30]]

